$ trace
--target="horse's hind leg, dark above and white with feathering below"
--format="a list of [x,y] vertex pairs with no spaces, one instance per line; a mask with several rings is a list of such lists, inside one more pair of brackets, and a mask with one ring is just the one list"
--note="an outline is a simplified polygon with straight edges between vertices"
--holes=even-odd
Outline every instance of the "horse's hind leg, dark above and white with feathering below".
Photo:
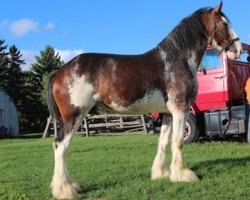
[[51,181],[52,194],[57,199],[73,199],[80,190],[79,185],[69,176],[65,163],[65,153],[70,141],[87,112],[72,115],[64,122],[61,132],[53,143],[55,166]]

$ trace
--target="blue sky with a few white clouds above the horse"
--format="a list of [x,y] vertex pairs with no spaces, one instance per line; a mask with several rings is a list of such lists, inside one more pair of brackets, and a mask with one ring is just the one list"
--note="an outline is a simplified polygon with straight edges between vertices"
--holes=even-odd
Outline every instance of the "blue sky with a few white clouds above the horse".
[[[67,61],[82,52],[139,54],[154,48],[184,17],[219,0],[8,0],[1,2],[0,39],[34,62],[46,45]],[[223,1],[242,42],[250,43],[250,2]]]

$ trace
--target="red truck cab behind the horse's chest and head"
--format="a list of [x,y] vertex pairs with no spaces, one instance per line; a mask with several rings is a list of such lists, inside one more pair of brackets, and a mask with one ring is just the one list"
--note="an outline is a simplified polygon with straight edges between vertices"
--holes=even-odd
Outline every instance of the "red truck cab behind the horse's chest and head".
[[209,46],[203,56],[198,77],[198,96],[193,105],[195,113],[211,109],[228,108],[233,101],[240,104],[245,96],[245,83],[250,65],[243,54],[230,60],[225,52],[219,54]]

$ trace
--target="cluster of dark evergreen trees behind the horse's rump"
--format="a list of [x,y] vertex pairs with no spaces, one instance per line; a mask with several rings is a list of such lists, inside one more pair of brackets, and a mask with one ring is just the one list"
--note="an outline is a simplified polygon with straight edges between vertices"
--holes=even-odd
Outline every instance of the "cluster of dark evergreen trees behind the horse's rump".
[[[8,51],[9,50],[9,51]],[[47,85],[49,77],[63,65],[58,53],[46,46],[28,71],[22,71],[22,54],[15,45],[0,40],[0,89],[16,104],[20,130],[42,131],[48,117]]]

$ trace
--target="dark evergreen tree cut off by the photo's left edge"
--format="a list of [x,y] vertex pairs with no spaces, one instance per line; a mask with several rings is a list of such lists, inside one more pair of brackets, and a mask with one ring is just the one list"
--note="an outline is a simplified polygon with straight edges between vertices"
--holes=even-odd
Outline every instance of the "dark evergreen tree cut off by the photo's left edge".
[[0,89],[6,90],[8,80],[8,53],[6,52],[7,45],[4,45],[5,41],[0,40]]

